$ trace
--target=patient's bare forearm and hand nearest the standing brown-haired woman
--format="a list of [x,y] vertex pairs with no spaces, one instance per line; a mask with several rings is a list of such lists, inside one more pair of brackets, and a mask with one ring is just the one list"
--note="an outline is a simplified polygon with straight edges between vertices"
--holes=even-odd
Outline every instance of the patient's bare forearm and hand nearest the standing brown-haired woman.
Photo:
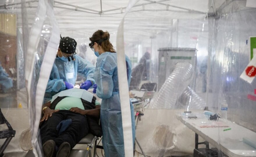
[[100,105],[96,105],[95,109],[80,109],[78,107],[72,107],[70,109],[70,111],[72,112],[76,112],[82,115],[86,115],[86,116],[93,116],[96,118],[99,118],[100,115]]

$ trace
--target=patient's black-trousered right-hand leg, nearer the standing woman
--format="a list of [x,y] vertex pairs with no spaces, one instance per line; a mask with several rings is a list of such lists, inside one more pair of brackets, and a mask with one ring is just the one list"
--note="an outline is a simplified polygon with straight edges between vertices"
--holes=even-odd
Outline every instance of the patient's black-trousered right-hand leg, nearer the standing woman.
[[60,146],[63,142],[68,142],[72,149],[84,136],[88,134],[89,128],[86,116],[71,111],[65,111],[65,119],[71,118],[71,125],[61,133],[58,138],[54,139],[56,146]]

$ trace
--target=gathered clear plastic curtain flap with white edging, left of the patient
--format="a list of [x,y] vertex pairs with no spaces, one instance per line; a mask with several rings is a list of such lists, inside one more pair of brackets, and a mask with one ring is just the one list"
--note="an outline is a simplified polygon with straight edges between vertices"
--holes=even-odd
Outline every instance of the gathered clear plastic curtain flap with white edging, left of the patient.
[[[50,1],[39,1],[38,3],[37,14],[30,31],[26,53],[25,75],[32,130],[31,142],[35,156],[42,156],[38,127],[43,97],[51,72],[49,69],[52,68],[54,63],[60,40],[60,32],[54,18],[54,12],[51,6],[52,3],[49,2]],[[42,33],[44,29],[48,30],[48,34]]]

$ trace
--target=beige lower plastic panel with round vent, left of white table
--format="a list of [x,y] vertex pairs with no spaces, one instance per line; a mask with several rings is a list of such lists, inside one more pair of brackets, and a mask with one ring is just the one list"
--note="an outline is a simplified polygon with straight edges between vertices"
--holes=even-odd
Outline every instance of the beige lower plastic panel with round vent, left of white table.
[[[176,118],[176,114],[183,111],[183,109],[143,111],[144,116],[141,116],[141,121],[138,121],[136,126],[136,138],[145,155],[182,156],[193,153],[195,134]],[[136,151],[141,153],[137,143]]]

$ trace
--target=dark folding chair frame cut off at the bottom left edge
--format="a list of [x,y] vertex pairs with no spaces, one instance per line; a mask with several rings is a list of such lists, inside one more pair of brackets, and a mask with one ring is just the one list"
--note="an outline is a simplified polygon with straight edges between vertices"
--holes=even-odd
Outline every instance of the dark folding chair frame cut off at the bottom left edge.
[[6,147],[10,143],[11,139],[16,134],[16,131],[13,130],[10,123],[3,116],[3,113],[0,108],[0,124],[4,124],[4,123],[7,125],[8,129],[0,131],[0,139],[6,138],[6,140],[4,141],[3,145],[0,148],[0,157],[3,156],[3,151],[6,149]]

